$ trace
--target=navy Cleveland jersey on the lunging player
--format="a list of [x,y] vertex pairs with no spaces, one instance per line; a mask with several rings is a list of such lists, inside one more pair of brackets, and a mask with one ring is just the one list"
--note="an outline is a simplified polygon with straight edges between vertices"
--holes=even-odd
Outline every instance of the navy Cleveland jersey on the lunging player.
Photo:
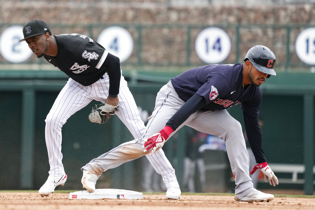
[[221,110],[242,104],[243,111],[251,116],[259,115],[261,89],[249,84],[243,88],[242,64],[207,65],[188,70],[171,79],[176,93],[183,101],[194,94],[206,100],[203,109]]

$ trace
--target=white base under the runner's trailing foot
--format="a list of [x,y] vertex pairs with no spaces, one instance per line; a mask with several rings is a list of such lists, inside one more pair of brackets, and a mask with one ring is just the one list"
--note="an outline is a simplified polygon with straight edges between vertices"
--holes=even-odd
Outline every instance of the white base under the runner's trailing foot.
[[82,190],[77,192],[71,192],[69,199],[143,199],[142,192],[135,192],[131,190],[119,190],[119,189],[96,189],[93,192],[88,190]]

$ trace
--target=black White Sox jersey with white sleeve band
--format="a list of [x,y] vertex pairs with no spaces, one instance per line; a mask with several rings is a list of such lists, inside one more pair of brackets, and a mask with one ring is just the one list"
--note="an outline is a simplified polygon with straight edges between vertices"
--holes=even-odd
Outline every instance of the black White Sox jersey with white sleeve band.
[[88,86],[106,72],[110,79],[110,95],[119,93],[121,77],[119,59],[93,39],[81,34],[61,34],[56,39],[58,52],[55,57],[44,58],[76,82]]

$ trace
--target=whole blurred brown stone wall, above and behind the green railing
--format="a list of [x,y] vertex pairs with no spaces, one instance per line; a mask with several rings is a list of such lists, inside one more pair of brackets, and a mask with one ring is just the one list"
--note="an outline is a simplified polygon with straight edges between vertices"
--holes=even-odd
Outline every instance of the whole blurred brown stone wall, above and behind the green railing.
[[[54,34],[70,32],[86,34],[89,33],[86,26],[93,24],[96,26],[94,36],[100,31],[97,26],[101,24],[127,26],[173,24],[174,28],[146,28],[141,32],[142,61],[147,64],[185,65],[187,28],[178,25],[189,24],[193,26],[189,48],[191,51],[189,59],[192,63],[200,63],[193,46],[198,32],[204,26],[219,25],[232,39],[232,52],[226,62],[236,61],[237,42],[240,43],[240,58],[243,58],[251,46],[262,44],[274,51],[277,63],[282,69],[286,68],[287,61],[286,26],[294,26],[289,36],[289,54],[290,61],[299,66],[302,63],[295,55],[295,38],[305,27],[315,25],[313,0],[0,0],[0,4],[2,23],[0,32],[6,25],[24,25],[33,19],[44,20],[51,26]],[[70,24],[76,25],[68,28]],[[238,24],[244,27],[240,30],[240,37],[237,40],[235,27]],[[198,25],[200,27],[197,27]],[[261,27],[265,25],[268,27]],[[131,26],[127,29],[136,39],[140,34]],[[136,60],[136,53],[133,53],[130,61]],[[242,62],[241,59],[237,61]]]

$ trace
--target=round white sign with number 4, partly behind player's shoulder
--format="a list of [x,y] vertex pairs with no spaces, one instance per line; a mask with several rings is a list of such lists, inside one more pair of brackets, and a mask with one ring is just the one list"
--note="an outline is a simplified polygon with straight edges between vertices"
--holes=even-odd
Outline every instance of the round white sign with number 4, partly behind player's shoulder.
[[100,32],[97,38],[110,54],[117,56],[120,62],[129,58],[134,48],[134,40],[125,28],[120,26],[110,26]]

